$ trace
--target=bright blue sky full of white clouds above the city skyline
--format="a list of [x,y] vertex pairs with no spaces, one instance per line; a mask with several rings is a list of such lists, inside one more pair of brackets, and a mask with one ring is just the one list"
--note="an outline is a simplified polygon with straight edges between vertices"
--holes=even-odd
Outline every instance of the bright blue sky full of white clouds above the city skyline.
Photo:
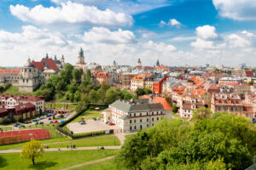
[[255,0],[1,0],[0,65],[256,66]]

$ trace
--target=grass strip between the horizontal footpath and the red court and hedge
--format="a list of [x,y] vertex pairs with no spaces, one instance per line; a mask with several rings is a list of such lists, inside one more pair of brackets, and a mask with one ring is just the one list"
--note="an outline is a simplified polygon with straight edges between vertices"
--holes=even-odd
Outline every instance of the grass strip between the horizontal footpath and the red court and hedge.
[[[113,146],[119,145],[119,139],[113,134],[102,135],[96,137],[86,137],[83,139],[71,140],[67,137],[58,139],[45,139],[40,140],[41,144],[49,146],[49,148],[66,148],[67,145],[75,144],[76,147],[86,147],[86,146]],[[5,144],[0,145],[0,150],[20,150],[25,143],[20,144]]]

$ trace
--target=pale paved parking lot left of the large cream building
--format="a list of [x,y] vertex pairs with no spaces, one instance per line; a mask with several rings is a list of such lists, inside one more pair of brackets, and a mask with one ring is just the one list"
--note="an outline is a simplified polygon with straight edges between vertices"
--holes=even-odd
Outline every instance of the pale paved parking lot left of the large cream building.
[[89,132],[118,128],[116,125],[109,126],[108,124],[104,123],[102,120],[98,120],[98,121],[87,120],[86,124],[82,124],[82,125],[79,122],[72,122],[72,123],[68,123],[67,127],[71,131],[73,131],[73,133],[89,133]]

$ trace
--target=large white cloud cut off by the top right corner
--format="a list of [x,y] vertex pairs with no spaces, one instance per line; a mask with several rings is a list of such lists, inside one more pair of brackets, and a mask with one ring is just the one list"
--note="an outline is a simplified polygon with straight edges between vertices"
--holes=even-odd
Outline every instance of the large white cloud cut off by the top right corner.
[[255,0],[212,0],[219,14],[233,20],[256,20]]

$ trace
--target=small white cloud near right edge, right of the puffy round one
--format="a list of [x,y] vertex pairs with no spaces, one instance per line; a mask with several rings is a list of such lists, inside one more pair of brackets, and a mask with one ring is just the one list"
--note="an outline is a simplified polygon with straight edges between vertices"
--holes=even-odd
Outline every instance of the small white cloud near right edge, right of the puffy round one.
[[246,48],[251,45],[249,40],[236,34],[231,34],[228,41],[230,42],[230,48]]

